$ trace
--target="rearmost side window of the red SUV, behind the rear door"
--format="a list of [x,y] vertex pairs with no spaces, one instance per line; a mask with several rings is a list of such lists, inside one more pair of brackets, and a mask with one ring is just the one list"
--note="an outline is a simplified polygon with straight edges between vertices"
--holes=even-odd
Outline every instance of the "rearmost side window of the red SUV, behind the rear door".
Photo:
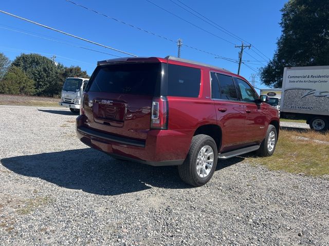
[[200,69],[168,64],[168,96],[198,97]]

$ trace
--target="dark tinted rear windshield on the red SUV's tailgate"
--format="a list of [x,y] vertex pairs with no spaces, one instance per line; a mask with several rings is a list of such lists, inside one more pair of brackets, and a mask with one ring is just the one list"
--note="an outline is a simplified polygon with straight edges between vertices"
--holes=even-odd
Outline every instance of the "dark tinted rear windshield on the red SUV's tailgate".
[[98,67],[86,91],[159,95],[161,64],[115,64]]

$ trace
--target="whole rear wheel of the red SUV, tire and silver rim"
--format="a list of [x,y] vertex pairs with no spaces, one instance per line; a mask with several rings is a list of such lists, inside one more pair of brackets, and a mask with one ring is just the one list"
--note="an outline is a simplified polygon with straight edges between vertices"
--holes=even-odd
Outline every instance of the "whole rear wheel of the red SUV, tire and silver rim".
[[199,134],[192,138],[189,153],[178,166],[180,178],[191,186],[203,186],[217,166],[217,146],[213,138]]

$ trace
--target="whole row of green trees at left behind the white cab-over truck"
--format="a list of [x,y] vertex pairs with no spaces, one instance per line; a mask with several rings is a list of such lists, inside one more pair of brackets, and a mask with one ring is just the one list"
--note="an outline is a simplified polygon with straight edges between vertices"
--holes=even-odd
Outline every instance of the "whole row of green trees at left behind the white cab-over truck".
[[21,54],[11,62],[0,53],[0,93],[60,95],[67,77],[89,78],[79,66],[65,67],[39,54]]

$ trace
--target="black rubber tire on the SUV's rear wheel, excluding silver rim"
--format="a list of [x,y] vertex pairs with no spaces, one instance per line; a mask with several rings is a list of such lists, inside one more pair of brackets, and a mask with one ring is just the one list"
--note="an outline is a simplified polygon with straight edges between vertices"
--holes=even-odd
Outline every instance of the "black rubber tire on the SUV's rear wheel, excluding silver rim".
[[[198,174],[197,172],[197,160],[198,160],[198,156],[201,153],[201,150],[205,149],[206,151],[209,150],[209,154],[211,153],[210,148],[212,149],[212,153],[213,153],[213,163],[212,163],[212,167],[207,168],[205,167],[204,170],[209,170],[210,172],[205,176],[205,177],[200,177],[200,175],[203,174]],[[217,166],[217,146],[216,143],[214,141],[213,138],[211,138],[208,135],[204,135],[204,134],[199,134],[196,135],[192,138],[191,141],[191,145],[190,145],[190,150],[189,153],[184,161],[184,163],[180,166],[178,166],[178,173],[180,178],[188,183],[191,186],[203,186],[205,185],[212,177],[214,171],[216,170],[216,166]],[[205,152],[203,152],[205,153]],[[211,156],[206,157],[206,159],[204,159],[204,163],[207,162],[207,160],[211,160]],[[205,155],[204,155],[205,157]],[[208,159],[209,158],[209,159]],[[209,164],[209,163],[208,163]],[[200,166],[199,166],[200,167]],[[201,168],[199,169],[201,172]]]

